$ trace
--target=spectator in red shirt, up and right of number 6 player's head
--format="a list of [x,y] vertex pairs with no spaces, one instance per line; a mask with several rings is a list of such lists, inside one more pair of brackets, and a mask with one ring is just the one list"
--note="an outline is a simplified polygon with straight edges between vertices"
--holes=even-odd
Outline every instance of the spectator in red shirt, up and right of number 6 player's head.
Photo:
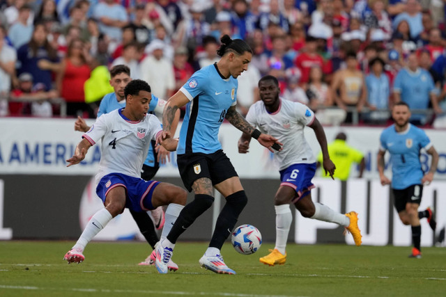
[[305,40],[305,51],[295,59],[295,65],[299,68],[300,72],[302,72],[302,77],[300,78],[301,84],[308,83],[309,72],[312,67],[321,67],[324,74],[330,74],[330,65],[324,63],[322,56],[318,54],[316,50],[316,38],[307,36]]

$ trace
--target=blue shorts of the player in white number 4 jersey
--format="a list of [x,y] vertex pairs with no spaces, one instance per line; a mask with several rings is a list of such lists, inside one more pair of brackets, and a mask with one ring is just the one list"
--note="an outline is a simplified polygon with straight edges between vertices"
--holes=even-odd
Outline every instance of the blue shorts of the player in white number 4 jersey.
[[155,209],[152,204],[152,194],[160,182],[145,181],[140,177],[130,177],[121,173],[110,173],[100,179],[96,194],[105,203],[105,198],[112,188],[123,186],[127,193],[125,207],[132,211],[149,211]]

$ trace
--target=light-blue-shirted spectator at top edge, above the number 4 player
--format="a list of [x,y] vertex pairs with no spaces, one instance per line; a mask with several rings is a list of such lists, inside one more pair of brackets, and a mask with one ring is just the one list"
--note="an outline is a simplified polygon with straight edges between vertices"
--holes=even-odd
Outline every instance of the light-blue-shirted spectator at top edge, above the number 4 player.
[[114,0],[105,0],[95,6],[93,17],[98,19],[99,29],[110,39],[121,41],[121,28],[128,24],[125,8]]

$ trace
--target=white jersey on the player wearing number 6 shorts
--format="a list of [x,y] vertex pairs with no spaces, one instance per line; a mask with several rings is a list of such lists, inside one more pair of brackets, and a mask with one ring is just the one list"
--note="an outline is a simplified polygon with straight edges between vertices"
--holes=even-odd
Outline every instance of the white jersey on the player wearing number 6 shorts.
[[275,113],[268,113],[263,102],[258,101],[249,107],[246,120],[262,133],[270,134],[284,144],[281,152],[274,153],[274,161],[279,170],[295,163],[314,163],[312,148],[304,136],[305,126],[312,125],[314,113],[304,104],[280,99]]

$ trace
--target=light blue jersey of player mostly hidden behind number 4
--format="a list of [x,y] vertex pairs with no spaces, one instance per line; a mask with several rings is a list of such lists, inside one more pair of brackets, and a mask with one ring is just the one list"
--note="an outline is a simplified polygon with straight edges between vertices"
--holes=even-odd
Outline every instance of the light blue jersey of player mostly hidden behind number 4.
[[[155,111],[155,107],[158,104],[158,97],[152,94],[151,102],[148,104],[148,112]],[[122,109],[125,107],[125,99],[118,101],[116,98],[116,93],[109,93],[102,98],[100,105],[99,105],[99,111],[98,111],[98,118],[103,115],[104,113],[110,113],[114,111],[115,109]],[[148,154],[146,161],[144,161],[144,165],[155,167],[156,165],[155,160],[155,152],[153,151],[153,145],[151,145],[148,148]]]

